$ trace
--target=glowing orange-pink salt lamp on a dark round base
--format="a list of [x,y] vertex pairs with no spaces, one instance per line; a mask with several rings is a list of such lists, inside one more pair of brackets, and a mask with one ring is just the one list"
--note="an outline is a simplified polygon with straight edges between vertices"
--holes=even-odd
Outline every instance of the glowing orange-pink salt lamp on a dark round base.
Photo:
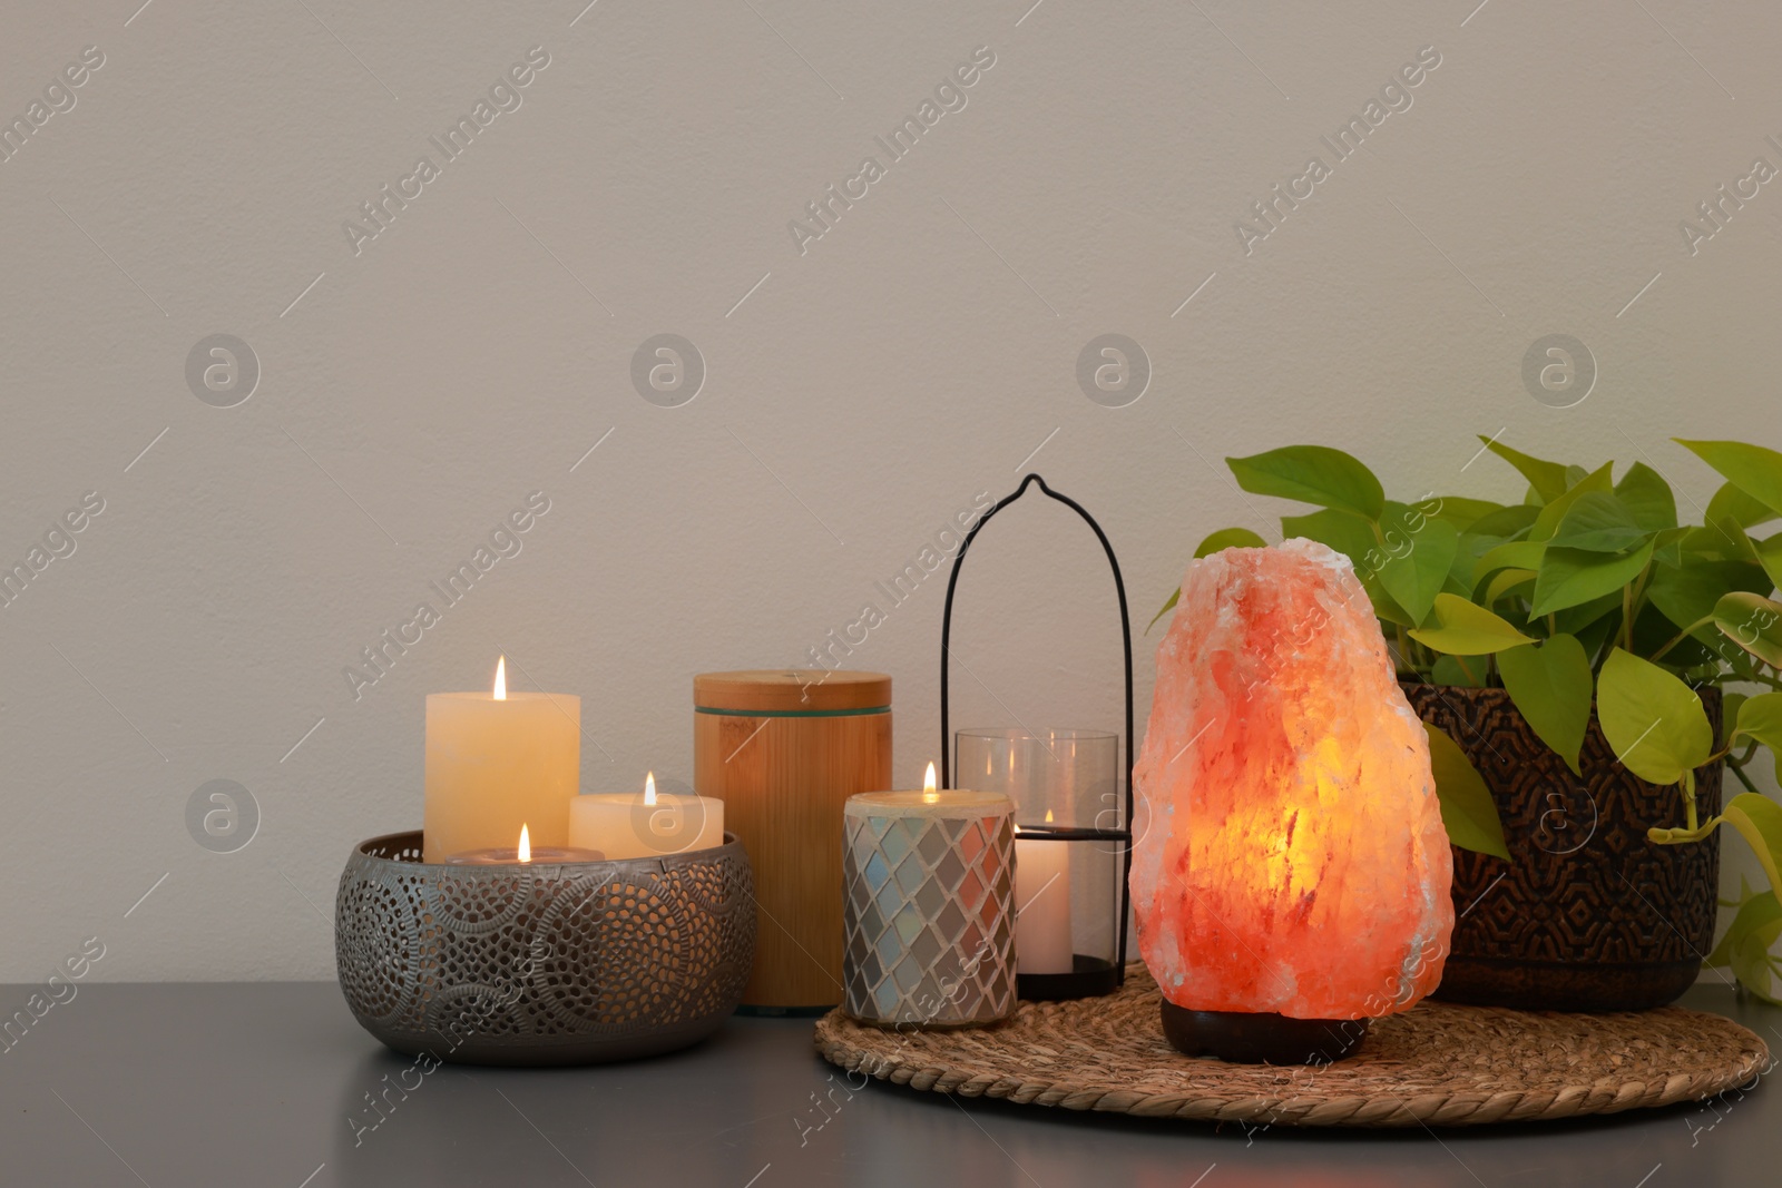
[[1288,540],[1189,566],[1133,780],[1139,951],[1176,1047],[1322,1063],[1442,981],[1429,743],[1342,554]]

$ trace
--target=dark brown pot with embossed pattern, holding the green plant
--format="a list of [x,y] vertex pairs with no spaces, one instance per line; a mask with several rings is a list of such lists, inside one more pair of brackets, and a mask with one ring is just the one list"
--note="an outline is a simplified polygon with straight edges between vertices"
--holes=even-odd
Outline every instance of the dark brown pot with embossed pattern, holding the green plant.
[[[1572,775],[1504,689],[1404,684],[1484,777],[1509,862],[1454,850],[1454,942],[1436,997],[1533,1010],[1643,1010],[1682,994],[1714,944],[1720,834],[1655,846],[1682,796],[1622,766],[1591,716]],[[1720,691],[1702,689],[1720,737]],[[1698,768],[1696,810],[1720,812],[1720,762]]]

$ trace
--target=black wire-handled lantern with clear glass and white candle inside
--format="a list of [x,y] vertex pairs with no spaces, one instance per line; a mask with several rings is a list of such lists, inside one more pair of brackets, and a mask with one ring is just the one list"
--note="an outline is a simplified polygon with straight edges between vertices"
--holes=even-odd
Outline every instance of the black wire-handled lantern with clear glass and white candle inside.
[[[1124,755],[1107,730],[968,728],[952,732],[953,591],[971,541],[991,518],[1030,486],[1082,517],[1101,541],[1119,598],[1126,679]],[[941,785],[1003,793],[1016,819],[1016,971],[1025,999],[1112,994],[1126,978],[1126,921],[1132,873],[1132,620],[1126,582],[1107,533],[1082,504],[1021,479],[966,534],[953,557],[941,618]],[[957,750],[955,750],[957,746]],[[952,759],[952,762],[950,762]],[[1124,762],[1123,762],[1124,761]]]

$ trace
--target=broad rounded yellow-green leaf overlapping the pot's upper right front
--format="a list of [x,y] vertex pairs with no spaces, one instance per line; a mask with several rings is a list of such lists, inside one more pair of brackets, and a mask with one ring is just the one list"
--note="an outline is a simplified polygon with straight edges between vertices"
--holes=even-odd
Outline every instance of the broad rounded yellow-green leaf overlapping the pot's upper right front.
[[1648,784],[1677,784],[1714,753],[1714,730],[1695,689],[1622,648],[1602,663],[1597,718],[1620,761]]

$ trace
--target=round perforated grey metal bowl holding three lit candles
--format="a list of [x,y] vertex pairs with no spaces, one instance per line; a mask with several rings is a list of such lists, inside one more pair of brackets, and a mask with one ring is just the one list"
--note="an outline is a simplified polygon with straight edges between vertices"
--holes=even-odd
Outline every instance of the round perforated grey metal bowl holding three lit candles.
[[360,842],[335,965],[360,1026],[399,1053],[485,1065],[654,1056],[743,997],[754,878],[734,834],[666,858],[440,866],[421,834]]

